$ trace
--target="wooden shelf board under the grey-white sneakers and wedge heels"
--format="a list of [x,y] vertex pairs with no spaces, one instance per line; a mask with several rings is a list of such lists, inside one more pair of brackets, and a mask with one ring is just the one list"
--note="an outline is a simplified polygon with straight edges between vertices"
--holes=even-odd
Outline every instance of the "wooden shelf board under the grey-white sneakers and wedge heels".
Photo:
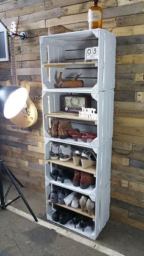
[[82,172],[87,172],[88,174],[93,174],[94,177],[96,176],[96,166],[88,167],[87,169],[82,168],[82,166],[74,166],[73,160],[69,160],[67,162],[62,162],[59,159],[53,160],[53,159],[47,159],[46,162],[53,163],[53,164],[59,164],[60,166],[65,166],[71,169],[81,170]]

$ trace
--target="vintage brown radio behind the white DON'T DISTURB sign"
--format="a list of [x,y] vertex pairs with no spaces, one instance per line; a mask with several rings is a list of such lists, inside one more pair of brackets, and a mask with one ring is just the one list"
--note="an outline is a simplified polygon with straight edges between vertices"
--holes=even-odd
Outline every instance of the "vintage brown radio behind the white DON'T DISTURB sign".
[[63,96],[63,111],[78,113],[82,108],[90,108],[91,97],[89,95],[65,95]]

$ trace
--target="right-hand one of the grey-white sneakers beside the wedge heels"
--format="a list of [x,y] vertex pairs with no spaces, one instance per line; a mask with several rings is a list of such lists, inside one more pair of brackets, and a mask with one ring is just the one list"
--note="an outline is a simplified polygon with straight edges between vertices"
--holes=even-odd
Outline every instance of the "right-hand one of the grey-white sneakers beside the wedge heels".
[[73,156],[71,146],[68,144],[61,144],[59,147],[59,159],[62,162],[70,160]]

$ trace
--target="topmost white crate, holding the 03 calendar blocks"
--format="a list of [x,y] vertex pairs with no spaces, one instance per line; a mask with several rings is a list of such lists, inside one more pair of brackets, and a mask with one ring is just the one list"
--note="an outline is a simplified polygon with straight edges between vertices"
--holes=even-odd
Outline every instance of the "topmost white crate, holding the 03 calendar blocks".
[[[85,48],[98,46],[98,65],[54,65],[45,68],[44,64],[85,62]],[[59,72],[65,79],[73,79],[79,73],[84,87],[103,91],[115,87],[115,35],[104,29],[68,32],[40,37],[41,73],[43,89],[54,89]],[[49,69],[49,71],[47,70]]]

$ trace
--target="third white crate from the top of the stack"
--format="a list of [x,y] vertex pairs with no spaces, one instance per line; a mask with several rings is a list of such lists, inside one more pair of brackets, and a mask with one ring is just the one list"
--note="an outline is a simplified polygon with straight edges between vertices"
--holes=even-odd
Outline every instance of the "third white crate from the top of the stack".
[[[45,138],[45,161],[49,159],[49,151],[50,151],[50,144],[48,138]],[[73,145],[72,145],[73,148]],[[104,189],[104,187],[110,182],[110,168],[111,168],[111,155],[112,155],[112,139],[104,143],[101,147],[92,148],[87,150],[91,150],[96,155],[96,168],[95,172],[93,172],[96,178],[96,185],[90,186],[88,189],[81,189],[80,187],[74,187],[73,181],[65,180],[64,183],[60,181],[54,181],[50,175],[52,169],[57,168],[63,165],[62,161],[56,161],[57,164],[54,163],[47,163],[45,164],[45,174],[46,174],[46,181],[48,183],[52,183],[53,185],[60,186],[62,188],[68,188],[72,191],[79,192],[81,194],[85,194],[89,196],[93,201],[95,201],[95,197]],[[67,162],[68,163],[68,162]],[[67,164],[68,165],[68,164]],[[68,167],[69,168],[69,167]],[[76,166],[73,166],[71,169],[76,169]],[[83,172],[88,172],[88,169],[82,169]]]

